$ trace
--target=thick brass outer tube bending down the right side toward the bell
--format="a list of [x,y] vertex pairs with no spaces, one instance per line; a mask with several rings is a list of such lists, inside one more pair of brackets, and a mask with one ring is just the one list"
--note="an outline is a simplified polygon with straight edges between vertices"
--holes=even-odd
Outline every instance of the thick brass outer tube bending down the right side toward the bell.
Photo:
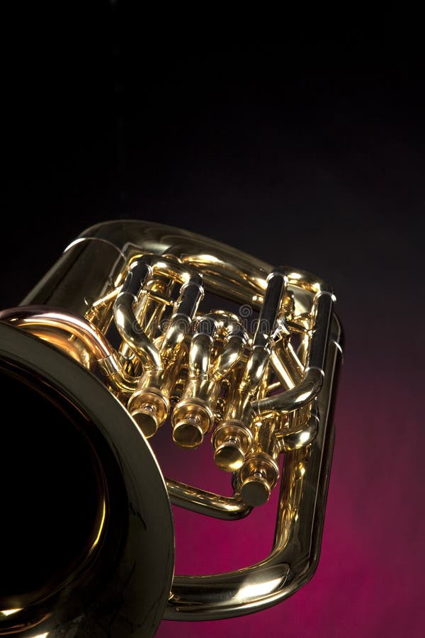
[[335,344],[340,340],[341,327],[334,317],[319,396],[319,432],[307,459],[305,450],[287,455],[271,554],[255,565],[226,574],[174,576],[166,620],[216,620],[263,610],[288,598],[312,577],[319,559],[334,446],[331,419],[341,362]]

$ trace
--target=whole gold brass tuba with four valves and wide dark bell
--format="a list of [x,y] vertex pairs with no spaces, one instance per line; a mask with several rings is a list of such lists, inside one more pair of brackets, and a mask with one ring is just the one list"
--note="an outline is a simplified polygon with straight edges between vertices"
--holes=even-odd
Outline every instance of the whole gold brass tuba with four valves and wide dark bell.
[[[0,636],[149,637],[162,618],[249,614],[307,583],[334,445],[334,301],[307,272],[117,220],[0,313]],[[229,493],[165,478],[159,428],[194,457],[209,445]],[[174,575],[171,504],[231,527],[274,490],[266,559]]]

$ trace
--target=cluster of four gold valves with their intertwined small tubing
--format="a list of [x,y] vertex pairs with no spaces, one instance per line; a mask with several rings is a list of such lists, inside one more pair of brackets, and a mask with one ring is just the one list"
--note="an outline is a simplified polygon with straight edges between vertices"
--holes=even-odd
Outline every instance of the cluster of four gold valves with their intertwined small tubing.
[[200,313],[204,294],[202,274],[173,255],[132,259],[113,308],[121,362],[137,376],[127,407],[146,437],[167,419],[181,447],[212,433],[215,464],[235,473],[242,500],[260,505],[278,482],[279,454],[317,433],[322,369],[310,351],[327,298],[312,296],[297,317],[288,276],[274,269],[250,330],[226,310]]

